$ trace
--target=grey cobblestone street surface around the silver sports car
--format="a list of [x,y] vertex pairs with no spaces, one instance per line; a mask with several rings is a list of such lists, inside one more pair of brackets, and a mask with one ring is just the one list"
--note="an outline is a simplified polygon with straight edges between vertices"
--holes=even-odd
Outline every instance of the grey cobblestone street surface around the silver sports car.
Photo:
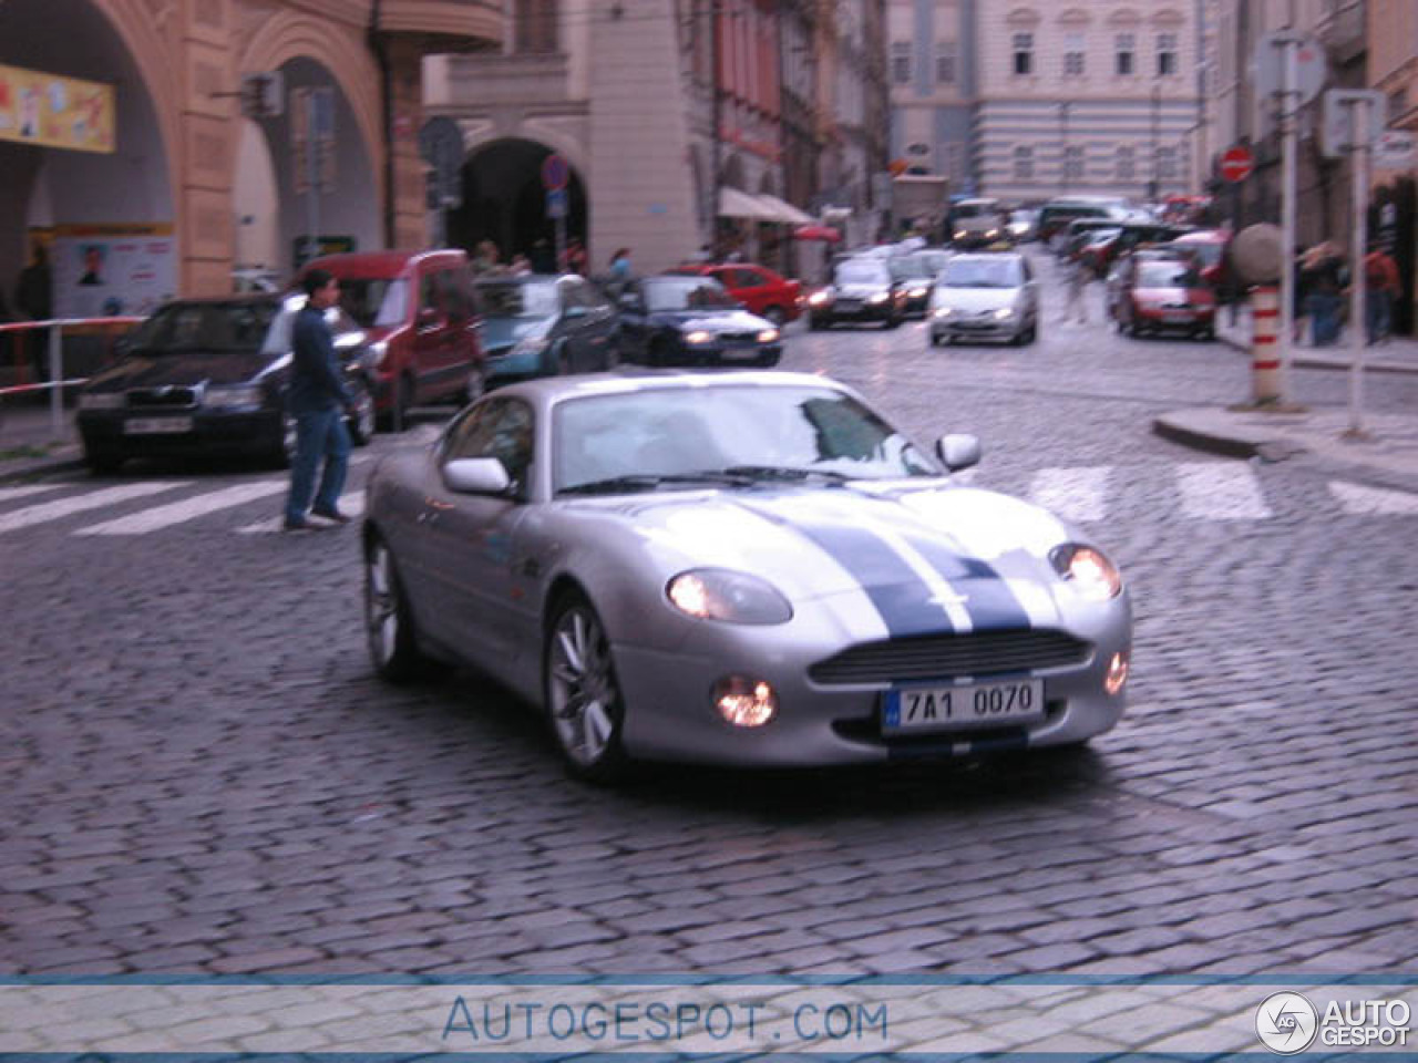
[[259,488],[113,523],[279,476],[0,489],[0,972],[1411,974],[1418,483],[1159,439],[1245,398],[1244,359],[1093,320],[793,326],[786,359],[978,432],[977,483],[1120,561],[1132,709],[1072,755],[588,788],[478,677],[374,680],[352,529],[259,534]]

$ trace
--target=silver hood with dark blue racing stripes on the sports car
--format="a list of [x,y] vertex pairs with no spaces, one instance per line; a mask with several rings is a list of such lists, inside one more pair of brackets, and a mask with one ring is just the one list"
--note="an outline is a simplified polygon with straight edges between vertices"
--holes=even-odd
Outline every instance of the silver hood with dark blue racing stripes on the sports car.
[[1048,554],[1071,540],[1068,527],[1007,495],[932,485],[696,490],[567,505],[620,524],[665,578],[698,567],[752,573],[793,602],[845,598],[875,609],[895,636],[1058,624],[1072,588]]

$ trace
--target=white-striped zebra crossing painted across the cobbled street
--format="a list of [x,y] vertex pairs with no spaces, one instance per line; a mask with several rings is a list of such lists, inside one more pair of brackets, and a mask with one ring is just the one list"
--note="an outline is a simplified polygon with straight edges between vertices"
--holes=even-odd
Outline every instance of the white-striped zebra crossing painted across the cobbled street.
[[[1123,519],[1136,505],[1136,500],[1129,500],[1130,496],[1139,493],[1146,496],[1153,512],[1163,499],[1161,505],[1170,507],[1164,519],[1176,520],[1235,526],[1273,519],[1279,509],[1268,500],[1263,478],[1244,462],[1052,466],[1034,471],[1027,483],[1010,485],[981,483],[976,475],[960,479],[1021,493],[1076,524]],[[132,539],[186,527],[203,529],[204,522],[231,512],[240,519],[242,507],[264,513],[251,513],[231,529],[234,534],[278,533],[278,502],[286,486],[286,476],[272,475],[218,488],[204,488],[191,479],[138,480],[115,486],[52,482],[0,488],[0,539],[34,527],[57,529],[61,534],[82,539]],[[1282,497],[1292,493],[1289,488],[1275,490]],[[1336,516],[1418,516],[1415,490],[1349,480],[1329,480],[1322,490],[1327,512]],[[1290,500],[1292,509],[1295,505]],[[362,516],[363,486],[352,485],[340,499],[340,509],[353,517]],[[1309,503],[1306,510],[1314,512]]]

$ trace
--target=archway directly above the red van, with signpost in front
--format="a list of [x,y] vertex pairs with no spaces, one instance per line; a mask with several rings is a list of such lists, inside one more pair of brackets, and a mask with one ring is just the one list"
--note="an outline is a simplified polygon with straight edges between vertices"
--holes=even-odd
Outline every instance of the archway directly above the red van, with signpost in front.
[[[279,69],[286,88],[285,113],[242,123],[233,201],[241,265],[288,274],[306,257],[312,228],[318,230],[322,252],[377,248],[381,231],[374,166],[339,79],[306,57],[289,60]],[[332,133],[316,181],[302,166],[306,156],[295,149],[298,130],[311,120],[308,113],[298,113],[309,92],[323,94],[328,101]]]

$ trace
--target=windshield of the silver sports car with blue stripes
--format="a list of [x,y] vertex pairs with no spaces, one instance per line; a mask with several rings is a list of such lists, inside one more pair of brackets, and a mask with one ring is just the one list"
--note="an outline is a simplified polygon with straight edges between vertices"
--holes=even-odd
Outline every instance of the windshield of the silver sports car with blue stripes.
[[862,479],[940,475],[856,400],[813,386],[588,395],[560,403],[553,431],[557,492],[623,476],[740,468]]

